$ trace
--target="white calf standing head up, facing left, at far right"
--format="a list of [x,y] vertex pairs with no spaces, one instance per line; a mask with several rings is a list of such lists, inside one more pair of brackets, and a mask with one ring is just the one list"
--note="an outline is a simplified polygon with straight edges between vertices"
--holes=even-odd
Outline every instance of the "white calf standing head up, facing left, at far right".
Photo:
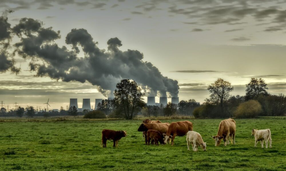
[[256,147],[256,144],[258,143],[258,141],[261,141],[261,147],[263,148],[263,141],[265,141],[265,145],[267,148],[268,141],[269,141],[269,147],[272,148],[272,139],[271,139],[270,129],[263,129],[263,130],[252,129],[251,135],[254,136],[255,138],[254,147]]

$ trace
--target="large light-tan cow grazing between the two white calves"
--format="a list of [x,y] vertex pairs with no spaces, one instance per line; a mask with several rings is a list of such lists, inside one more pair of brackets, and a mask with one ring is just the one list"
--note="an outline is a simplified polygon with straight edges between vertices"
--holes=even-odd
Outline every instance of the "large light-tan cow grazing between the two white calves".
[[229,138],[231,138],[231,143],[233,142],[233,144],[235,144],[235,131],[235,120],[229,118],[221,121],[221,123],[219,123],[217,135],[212,136],[212,138],[215,140],[215,146],[219,146],[221,139],[224,141],[224,146],[227,146],[227,144],[229,144]]

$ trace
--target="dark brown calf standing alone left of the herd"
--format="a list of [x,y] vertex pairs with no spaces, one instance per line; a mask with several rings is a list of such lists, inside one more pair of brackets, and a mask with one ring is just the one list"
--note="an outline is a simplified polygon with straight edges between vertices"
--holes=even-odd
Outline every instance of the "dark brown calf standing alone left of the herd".
[[106,147],[106,141],[107,140],[113,140],[113,146],[118,147],[118,141],[122,138],[122,137],[126,137],[126,131],[114,131],[114,130],[110,130],[110,129],[104,129],[102,130],[102,141],[101,141],[101,146],[103,144],[103,147]]

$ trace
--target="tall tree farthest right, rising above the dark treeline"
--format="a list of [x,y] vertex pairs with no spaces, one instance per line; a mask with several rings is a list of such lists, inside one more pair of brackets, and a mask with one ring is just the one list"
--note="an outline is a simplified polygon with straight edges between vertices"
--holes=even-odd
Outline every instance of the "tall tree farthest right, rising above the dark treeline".
[[246,100],[254,99],[255,97],[258,97],[259,95],[267,95],[267,84],[265,81],[261,78],[251,78],[250,83],[246,84]]

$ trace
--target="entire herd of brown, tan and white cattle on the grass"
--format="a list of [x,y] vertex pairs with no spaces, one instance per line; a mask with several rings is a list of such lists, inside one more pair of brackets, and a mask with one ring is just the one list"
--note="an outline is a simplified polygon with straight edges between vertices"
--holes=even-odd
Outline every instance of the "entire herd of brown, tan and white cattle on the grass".
[[[174,139],[176,136],[185,136],[188,150],[190,150],[190,143],[192,144],[193,151],[198,150],[198,146],[202,148],[202,150],[206,150],[206,143],[202,140],[202,137],[199,133],[193,131],[193,124],[190,121],[179,121],[173,123],[162,123],[161,121],[152,121],[149,119],[143,120],[140,124],[137,131],[143,132],[143,141],[145,139],[145,144],[166,144],[171,143],[174,145]],[[224,141],[224,146],[229,144],[229,139],[231,143],[235,144],[235,131],[236,131],[236,123],[235,120],[229,118],[221,121],[219,123],[219,130],[217,135],[212,136],[215,140],[215,146],[219,146],[221,140]],[[270,129],[265,130],[256,130],[252,129],[252,136],[255,137],[255,147],[258,141],[261,141],[261,147],[263,148],[263,141],[265,141],[266,148],[271,148],[271,132]],[[118,146],[118,141],[122,137],[126,137],[126,131],[114,131],[110,129],[104,129],[102,131],[102,143],[103,147],[106,147],[107,140],[113,140],[113,146]]]

